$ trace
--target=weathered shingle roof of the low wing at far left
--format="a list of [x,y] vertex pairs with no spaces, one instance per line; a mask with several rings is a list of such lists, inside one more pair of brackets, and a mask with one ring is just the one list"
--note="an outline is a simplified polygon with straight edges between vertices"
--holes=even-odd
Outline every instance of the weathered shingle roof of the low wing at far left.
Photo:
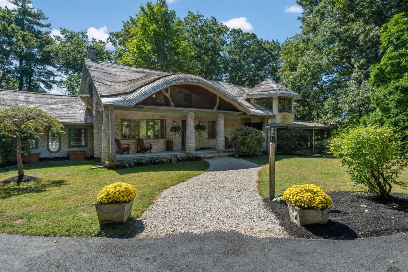
[[0,110],[15,105],[38,107],[62,123],[93,123],[92,111],[78,96],[0,90]]

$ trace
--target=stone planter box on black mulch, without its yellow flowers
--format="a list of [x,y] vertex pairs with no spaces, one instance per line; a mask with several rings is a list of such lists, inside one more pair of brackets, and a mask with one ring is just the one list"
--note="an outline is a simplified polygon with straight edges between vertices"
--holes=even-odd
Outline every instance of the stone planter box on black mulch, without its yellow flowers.
[[329,220],[330,209],[323,211],[305,210],[299,207],[295,207],[289,202],[288,209],[290,219],[298,226],[311,225],[311,224],[326,224]]

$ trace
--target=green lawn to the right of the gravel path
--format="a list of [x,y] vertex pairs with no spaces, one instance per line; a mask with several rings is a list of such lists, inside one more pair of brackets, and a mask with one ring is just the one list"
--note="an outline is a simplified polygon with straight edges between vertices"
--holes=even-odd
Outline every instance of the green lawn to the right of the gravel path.
[[[245,159],[261,165],[258,190],[262,197],[268,197],[269,157]],[[294,184],[310,183],[322,187],[325,192],[364,190],[363,187],[353,188],[345,170],[340,165],[340,159],[336,158],[278,155],[275,164],[275,195],[282,195]],[[408,181],[408,168],[403,171],[400,179]],[[408,193],[408,189],[394,186],[392,192]]]

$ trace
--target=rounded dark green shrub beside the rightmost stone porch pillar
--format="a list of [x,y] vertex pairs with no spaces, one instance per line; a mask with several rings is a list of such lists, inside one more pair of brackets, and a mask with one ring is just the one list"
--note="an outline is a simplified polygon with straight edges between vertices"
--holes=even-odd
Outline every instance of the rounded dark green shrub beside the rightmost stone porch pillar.
[[235,153],[238,156],[255,156],[260,154],[260,148],[265,141],[262,131],[242,126],[232,132],[232,144],[235,146]]

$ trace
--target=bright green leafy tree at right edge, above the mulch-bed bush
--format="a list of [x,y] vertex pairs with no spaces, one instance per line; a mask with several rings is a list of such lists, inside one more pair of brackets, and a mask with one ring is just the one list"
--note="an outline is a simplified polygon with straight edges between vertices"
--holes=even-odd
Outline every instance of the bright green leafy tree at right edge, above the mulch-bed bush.
[[395,15],[379,32],[383,56],[371,67],[371,100],[376,111],[368,122],[393,126],[408,135],[408,14]]

